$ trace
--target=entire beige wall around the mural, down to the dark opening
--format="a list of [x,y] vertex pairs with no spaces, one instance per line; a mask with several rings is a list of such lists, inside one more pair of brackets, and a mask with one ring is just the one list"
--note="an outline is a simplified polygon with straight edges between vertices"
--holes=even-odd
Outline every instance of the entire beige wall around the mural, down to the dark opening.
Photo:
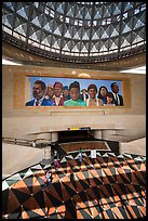
[[[75,74],[73,74],[75,73]],[[123,79],[123,107],[26,107],[25,76],[77,78],[81,73],[97,79]],[[111,76],[111,77],[110,77]],[[17,92],[17,93],[16,93]],[[127,95],[129,94],[129,95]],[[2,136],[30,138],[42,132],[67,130],[69,127],[123,129],[129,134],[145,135],[146,75],[80,70],[55,67],[3,66]],[[135,132],[134,132],[135,131]],[[120,131],[121,133],[121,131]],[[117,136],[116,136],[117,138]]]

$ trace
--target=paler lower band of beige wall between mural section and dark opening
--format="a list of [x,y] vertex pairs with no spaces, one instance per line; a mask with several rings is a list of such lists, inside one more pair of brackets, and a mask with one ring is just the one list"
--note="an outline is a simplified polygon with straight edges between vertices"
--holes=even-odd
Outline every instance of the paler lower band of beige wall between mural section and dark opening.
[[[91,115],[91,114],[90,114]],[[133,136],[146,135],[145,115],[68,115],[53,117],[10,117],[3,118],[3,138],[38,139],[39,135],[51,140],[50,132],[64,131],[68,128],[91,127],[92,130],[104,130],[104,136],[107,130],[115,130],[118,134]],[[118,140],[119,138],[116,136]],[[124,139],[124,136],[123,136]],[[127,139],[130,140],[130,139]]]

